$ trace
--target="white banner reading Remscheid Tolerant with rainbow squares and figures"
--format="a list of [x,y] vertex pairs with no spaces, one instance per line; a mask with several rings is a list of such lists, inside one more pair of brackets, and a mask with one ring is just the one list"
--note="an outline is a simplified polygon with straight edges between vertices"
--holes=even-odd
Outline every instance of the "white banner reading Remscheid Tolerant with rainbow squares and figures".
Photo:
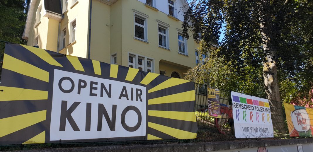
[[269,100],[231,92],[235,138],[274,137]]

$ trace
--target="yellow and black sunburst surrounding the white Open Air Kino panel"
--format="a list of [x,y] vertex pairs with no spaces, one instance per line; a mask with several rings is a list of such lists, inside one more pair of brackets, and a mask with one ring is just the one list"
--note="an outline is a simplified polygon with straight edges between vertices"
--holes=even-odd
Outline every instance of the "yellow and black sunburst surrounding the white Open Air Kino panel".
[[[146,88],[145,135],[82,138],[63,142],[193,139],[197,136],[198,127],[193,111],[195,92],[190,81],[7,43],[0,86],[0,90],[3,90],[0,92],[0,144],[59,142],[50,140],[55,70]],[[79,131],[75,133],[80,134]]]

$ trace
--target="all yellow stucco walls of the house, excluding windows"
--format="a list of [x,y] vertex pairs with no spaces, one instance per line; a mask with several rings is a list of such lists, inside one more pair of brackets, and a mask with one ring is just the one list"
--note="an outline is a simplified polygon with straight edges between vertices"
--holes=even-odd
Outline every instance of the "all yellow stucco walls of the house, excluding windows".
[[[42,5],[42,1],[37,0],[35,8]],[[72,0],[69,0],[68,11],[64,12],[64,18],[60,23],[60,30],[66,28],[66,47],[59,50],[59,53],[88,58],[89,9],[90,1],[79,0],[79,3],[72,5]],[[148,43],[134,39],[133,10],[149,16],[147,18]],[[28,45],[32,46],[39,35],[40,48],[57,51],[60,49],[60,47],[57,48],[57,43],[60,41],[60,38],[58,39],[59,21],[42,16],[41,23],[35,28],[36,11],[37,9],[34,9]],[[74,20],[76,20],[76,42],[70,43],[71,22]],[[158,22],[156,20],[170,25],[168,28],[169,50],[158,47]],[[182,22],[168,17],[161,11],[146,7],[144,3],[137,0],[118,0],[111,6],[93,0],[91,21],[91,59],[110,63],[111,55],[116,53],[117,64],[128,66],[128,53],[134,53],[152,58],[155,73],[162,70],[167,71],[165,75],[171,76],[171,73],[176,71],[181,78],[184,77],[183,73],[196,65],[194,51],[199,45],[192,38],[187,40],[188,54],[178,53],[177,29],[182,29]]]

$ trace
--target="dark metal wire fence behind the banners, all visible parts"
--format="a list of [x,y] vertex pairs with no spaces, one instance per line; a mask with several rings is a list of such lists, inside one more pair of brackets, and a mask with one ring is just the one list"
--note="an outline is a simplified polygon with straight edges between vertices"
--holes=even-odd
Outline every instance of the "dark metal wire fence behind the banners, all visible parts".
[[[4,41],[0,41],[0,82],[3,65]],[[202,142],[202,141],[220,141],[220,140],[247,140],[235,139],[233,119],[229,118],[232,114],[232,100],[229,90],[219,89],[219,101],[221,106],[222,118],[213,118],[208,115],[208,91],[207,85],[195,83],[196,105],[194,107],[198,124],[198,135],[196,139],[188,140],[139,140],[139,141],[103,141],[103,142],[80,142],[80,143],[50,143],[50,144],[27,144],[27,145],[0,145],[0,150],[8,149],[33,149],[33,148],[60,148],[60,147],[83,147],[83,146],[101,146],[112,144],[151,144],[168,142]],[[285,117],[285,110],[281,102],[270,101],[272,122],[274,127],[274,138],[289,138],[288,127]],[[217,125],[219,125],[217,127]],[[251,140],[251,139],[249,139]],[[253,140],[253,139],[252,139]]]

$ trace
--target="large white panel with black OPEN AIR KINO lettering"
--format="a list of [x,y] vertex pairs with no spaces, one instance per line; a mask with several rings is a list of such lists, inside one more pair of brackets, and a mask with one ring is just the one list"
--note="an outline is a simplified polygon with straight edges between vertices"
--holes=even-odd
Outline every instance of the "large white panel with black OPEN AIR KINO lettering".
[[50,140],[146,135],[146,87],[55,69]]

